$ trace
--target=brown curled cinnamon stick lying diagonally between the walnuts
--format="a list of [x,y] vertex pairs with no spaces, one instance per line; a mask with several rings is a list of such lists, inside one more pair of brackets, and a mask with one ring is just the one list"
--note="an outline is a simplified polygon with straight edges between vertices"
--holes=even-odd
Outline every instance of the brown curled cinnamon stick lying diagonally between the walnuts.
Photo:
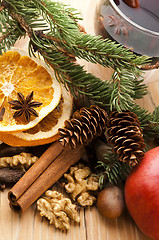
[[[61,149],[60,154],[54,153],[54,158],[52,157],[53,149],[57,150],[59,153],[59,149]],[[48,151],[48,150],[47,150]],[[84,154],[85,148],[80,146],[76,149],[71,149],[68,147],[61,147],[59,142],[56,143],[56,146],[53,144],[51,146],[51,150],[45,152],[40,158],[38,165],[34,164],[32,169],[29,169],[27,173],[19,180],[19,182],[10,190],[8,198],[10,200],[10,207],[16,212],[25,211],[33,202],[35,202],[49,187],[51,187],[67,170],[68,168],[75,164]],[[39,176],[31,183],[31,172],[34,170],[37,172],[37,166],[46,158],[50,160],[52,159],[52,163],[48,165],[44,169],[44,171],[39,174]],[[45,164],[43,164],[45,165]],[[31,171],[30,171],[31,170]],[[23,189],[23,184],[25,179],[29,176],[29,183],[27,181],[27,189],[25,184],[25,190]]]

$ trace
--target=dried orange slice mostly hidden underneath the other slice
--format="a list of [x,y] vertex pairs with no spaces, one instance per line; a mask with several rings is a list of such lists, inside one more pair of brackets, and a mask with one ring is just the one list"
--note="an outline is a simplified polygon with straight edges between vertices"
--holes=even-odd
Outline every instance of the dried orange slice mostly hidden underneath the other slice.
[[4,143],[19,146],[37,146],[51,143],[58,139],[58,128],[64,127],[64,121],[70,118],[72,112],[72,96],[62,87],[61,100],[58,106],[36,126],[26,131],[12,134],[0,132],[0,139]]

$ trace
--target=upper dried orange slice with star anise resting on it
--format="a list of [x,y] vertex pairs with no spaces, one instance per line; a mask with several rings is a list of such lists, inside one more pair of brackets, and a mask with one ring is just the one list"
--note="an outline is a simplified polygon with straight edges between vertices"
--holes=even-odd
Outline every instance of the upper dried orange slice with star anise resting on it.
[[[28,122],[24,114],[15,118],[15,109],[9,102],[18,100],[18,93],[26,99],[34,92],[33,101],[42,105],[36,108],[38,116],[31,115]],[[39,58],[12,49],[0,56],[0,132],[23,131],[34,127],[53,109],[61,99],[61,85],[54,71]],[[33,110],[32,110],[33,111]]]

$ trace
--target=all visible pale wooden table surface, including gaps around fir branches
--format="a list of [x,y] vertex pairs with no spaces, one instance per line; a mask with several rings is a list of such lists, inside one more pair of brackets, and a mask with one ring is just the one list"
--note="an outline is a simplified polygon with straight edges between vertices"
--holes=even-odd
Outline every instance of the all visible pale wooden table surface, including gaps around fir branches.
[[[62,0],[61,0],[62,1]],[[88,33],[94,34],[94,13],[99,0],[63,0],[79,10],[82,24]],[[23,45],[22,43],[20,43]],[[16,45],[18,46],[18,44]],[[109,71],[98,65],[81,62],[86,69],[98,77],[104,78]],[[150,76],[151,74],[151,76]],[[149,94],[139,103],[150,111],[159,104],[159,70],[148,73],[145,78],[149,85]],[[8,189],[0,192],[0,240],[148,240],[136,227],[125,210],[118,219],[102,217],[96,207],[80,210],[80,224],[71,223],[65,233],[56,230],[53,225],[40,217],[33,204],[23,214],[14,213],[8,204]]]

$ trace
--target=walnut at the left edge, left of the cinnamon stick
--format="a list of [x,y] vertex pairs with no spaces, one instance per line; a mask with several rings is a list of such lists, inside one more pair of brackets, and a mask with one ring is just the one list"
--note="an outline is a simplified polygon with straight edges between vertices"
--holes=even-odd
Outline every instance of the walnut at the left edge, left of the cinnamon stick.
[[38,157],[33,156],[31,153],[22,152],[19,155],[13,157],[1,157],[0,168],[3,167],[16,167],[23,166],[24,169],[28,169],[33,163],[37,161]]

